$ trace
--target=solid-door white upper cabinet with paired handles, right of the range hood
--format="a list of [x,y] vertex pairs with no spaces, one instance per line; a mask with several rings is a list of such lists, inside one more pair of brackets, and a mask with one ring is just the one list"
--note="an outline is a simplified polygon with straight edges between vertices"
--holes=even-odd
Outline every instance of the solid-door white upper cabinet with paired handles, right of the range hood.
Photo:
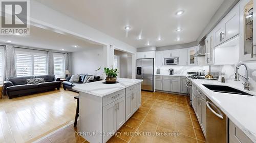
[[214,28],[214,46],[239,34],[239,5],[236,5]]

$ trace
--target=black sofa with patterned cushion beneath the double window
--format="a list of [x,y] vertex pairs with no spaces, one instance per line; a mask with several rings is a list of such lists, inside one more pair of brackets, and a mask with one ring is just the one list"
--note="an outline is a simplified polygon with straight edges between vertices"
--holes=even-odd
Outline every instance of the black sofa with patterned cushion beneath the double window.
[[[45,82],[27,84],[26,80],[31,78],[44,78]],[[12,99],[17,96],[45,92],[54,89],[59,90],[60,84],[60,78],[56,78],[55,75],[10,77],[7,81],[4,81],[4,91],[9,98]]]

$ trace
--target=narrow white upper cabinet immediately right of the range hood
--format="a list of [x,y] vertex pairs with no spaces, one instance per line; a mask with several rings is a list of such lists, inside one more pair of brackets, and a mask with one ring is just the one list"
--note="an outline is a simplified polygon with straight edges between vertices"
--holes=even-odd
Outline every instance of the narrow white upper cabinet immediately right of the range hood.
[[214,64],[214,35],[212,32],[205,39],[205,64]]

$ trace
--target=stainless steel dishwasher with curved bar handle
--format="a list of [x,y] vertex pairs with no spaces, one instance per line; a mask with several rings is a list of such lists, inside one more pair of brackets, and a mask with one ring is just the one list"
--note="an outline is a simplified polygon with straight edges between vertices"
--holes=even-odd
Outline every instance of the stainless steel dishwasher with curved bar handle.
[[227,143],[227,116],[209,98],[206,106],[206,143]]

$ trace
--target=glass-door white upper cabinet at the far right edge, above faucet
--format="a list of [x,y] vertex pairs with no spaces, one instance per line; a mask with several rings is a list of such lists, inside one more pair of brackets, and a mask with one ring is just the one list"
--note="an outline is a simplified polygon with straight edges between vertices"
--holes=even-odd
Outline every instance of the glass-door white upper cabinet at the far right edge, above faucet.
[[240,61],[256,60],[255,5],[253,0],[242,0],[240,4]]

